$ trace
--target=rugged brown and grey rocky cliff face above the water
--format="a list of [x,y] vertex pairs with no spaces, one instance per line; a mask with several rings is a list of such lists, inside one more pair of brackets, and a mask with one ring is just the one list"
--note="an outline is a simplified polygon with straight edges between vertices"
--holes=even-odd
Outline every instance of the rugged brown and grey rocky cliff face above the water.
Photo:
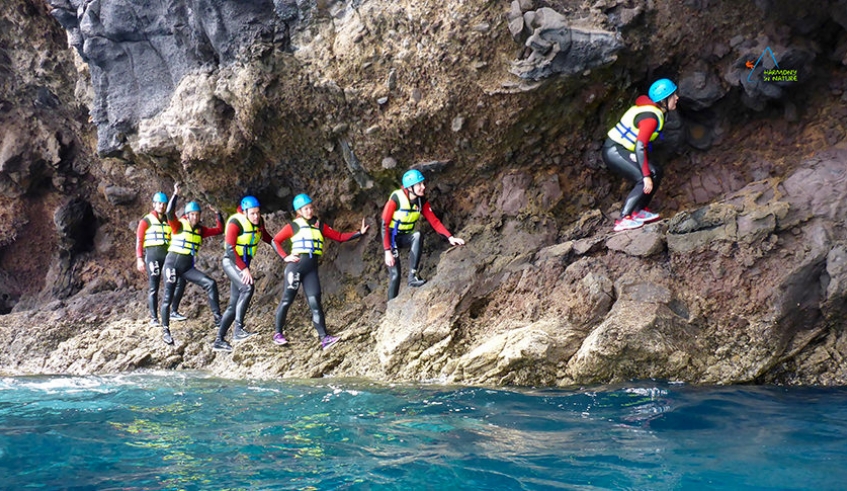
[[[847,380],[843,0],[13,4],[0,34],[3,371]],[[666,220],[611,235],[628,190],[600,145],[660,76],[681,96],[654,152]],[[430,281],[388,304],[376,234],[332,246],[331,351],[304,305],[292,346],[269,342],[282,272],[270,248],[248,316],[261,339],[212,352],[199,295],[175,348],[142,321],[134,228],[153,192],[180,181],[229,212],[255,194],[273,233],[305,191],[353,229],[378,224],[412,166],[468,245],[429,230]],[[225,302],[209,242],[198,267]]]

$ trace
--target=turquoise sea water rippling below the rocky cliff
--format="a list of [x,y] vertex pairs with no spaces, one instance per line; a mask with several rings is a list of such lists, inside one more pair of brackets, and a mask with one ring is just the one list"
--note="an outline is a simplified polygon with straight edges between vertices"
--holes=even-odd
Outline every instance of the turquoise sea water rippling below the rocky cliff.
[[0,379],[2,489],[845,489],[847,389]]

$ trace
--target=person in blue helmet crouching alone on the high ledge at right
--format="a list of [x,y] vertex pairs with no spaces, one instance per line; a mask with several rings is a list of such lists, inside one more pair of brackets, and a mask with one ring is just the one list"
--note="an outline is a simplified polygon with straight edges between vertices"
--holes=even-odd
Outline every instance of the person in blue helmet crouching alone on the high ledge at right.
[[662,168],[647,158],[647,150],[665,127],[668,113],[676,110],[679,100],[676,91],[676,84],[671,80],[656,80],[647,95],[639,96],[635,105],[609,130],[603,145],[603,162],[609,170],[633,183],[620,217],[615,220],[615,232],[637,229],[661,219],[648,205],[659,189]]

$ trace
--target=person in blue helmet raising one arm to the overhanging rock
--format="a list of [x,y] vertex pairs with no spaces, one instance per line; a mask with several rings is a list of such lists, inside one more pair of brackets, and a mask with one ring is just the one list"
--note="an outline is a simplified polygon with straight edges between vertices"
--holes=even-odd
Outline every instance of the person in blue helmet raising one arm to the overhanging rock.
[[[185,281],[200,285],[209,297],[209,308],[215,320],[215,327],[220,327],[221,308],[218,303],[218,284],[206,273],[194,267],[194,256],[200,250],[200,245],[206,237],[220,235],[223,232],[223,217],[217,213],[217,225],[215,227],[204,227],[200,225],[200,205],[190,201],[185,205],[185,213],[179,219],[176,218],[174,209],[179,196],[179,184],[174,184],[174,194],[168,203],[165,215],[168,217],[168,225],[172,230],[171,243],[168,246],[168,255],[165,257],[165,298],[162,300],[162,339],[167,344],[174,344],[170,331],[170,306],[176,290],[176,284],[180,278]],[[211,206],[210,210],[215,211]],[[226,350],[229,346],[214,346],[215,349]],[[228,351],[231,351],[230,346]]]

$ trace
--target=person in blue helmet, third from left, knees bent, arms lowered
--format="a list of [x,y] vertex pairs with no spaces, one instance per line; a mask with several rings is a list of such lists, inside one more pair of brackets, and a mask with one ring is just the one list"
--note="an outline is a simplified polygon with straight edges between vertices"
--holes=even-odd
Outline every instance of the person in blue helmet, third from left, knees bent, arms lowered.
[[229,326],[235,321],[232,331],[233,341],[242,341],[254,333],[244,329],[244,315],[253,298],[253,273],[250,263],[256,255],[259,242],[271,243],[273,237],[265,229],[265,221],[260,213],[259,200],[254,196],[245,196],[226,222],[224,232],[224,272],[229,278],[229,305],[221,318],[218,336],[212,348],[217,351],[232,351],[226,342]]

